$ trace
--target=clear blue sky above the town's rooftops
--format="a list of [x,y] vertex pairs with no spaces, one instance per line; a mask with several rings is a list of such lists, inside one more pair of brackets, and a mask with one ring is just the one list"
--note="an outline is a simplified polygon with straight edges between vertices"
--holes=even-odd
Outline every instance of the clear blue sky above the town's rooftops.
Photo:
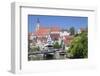
[[28,32],[35,31],[37,19],[39,19],[40,25],[43,27],[57,26],[62,29],[74,27],[77,30],[88,26],[88,17],[28,15]]

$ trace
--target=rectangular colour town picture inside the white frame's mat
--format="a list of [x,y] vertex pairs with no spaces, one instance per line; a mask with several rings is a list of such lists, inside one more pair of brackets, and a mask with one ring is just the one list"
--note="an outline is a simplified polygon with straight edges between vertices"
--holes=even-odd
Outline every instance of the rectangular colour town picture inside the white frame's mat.
[[87,26],[88,17],[29,15],[28,60],[87,58]]

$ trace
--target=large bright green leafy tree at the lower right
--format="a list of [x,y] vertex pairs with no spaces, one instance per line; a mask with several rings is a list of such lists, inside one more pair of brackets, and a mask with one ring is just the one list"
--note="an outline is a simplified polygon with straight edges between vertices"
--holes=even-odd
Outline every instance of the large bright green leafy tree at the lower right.
[[71,58],[87,58],[88,54],[88,38],[87,32],[82,32],[81,34],[74,37],[72,40],[68,53]]

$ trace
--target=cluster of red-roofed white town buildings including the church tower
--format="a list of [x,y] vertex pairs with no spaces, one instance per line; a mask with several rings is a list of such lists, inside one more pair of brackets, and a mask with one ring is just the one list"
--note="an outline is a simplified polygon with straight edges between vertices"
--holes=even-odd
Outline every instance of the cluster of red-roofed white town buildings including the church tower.
[[65,45],[68,45],[72,38],[67,30],[62,31],[56,26],[42,27],[39,19],[37,19],[35,32],[29,33],[29,44],[44,49],[46,45],[53,45],[55,41],[58,41],[59,44],[63,41]]

